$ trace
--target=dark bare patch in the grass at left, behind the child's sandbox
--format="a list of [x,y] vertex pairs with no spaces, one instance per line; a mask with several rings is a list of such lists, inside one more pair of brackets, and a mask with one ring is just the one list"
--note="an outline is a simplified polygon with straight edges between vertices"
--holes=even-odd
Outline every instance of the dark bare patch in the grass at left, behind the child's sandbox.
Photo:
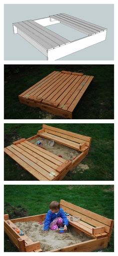
[[20,205],[14,207],[10,203],[5,203],[4,209],[8,213],[9,218],[11,219],[15,217],[25,217],[27,215],[27,210]]

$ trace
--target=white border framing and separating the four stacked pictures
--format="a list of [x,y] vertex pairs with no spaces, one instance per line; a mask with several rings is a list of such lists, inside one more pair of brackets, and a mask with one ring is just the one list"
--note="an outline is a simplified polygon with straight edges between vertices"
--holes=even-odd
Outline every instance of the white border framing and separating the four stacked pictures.
[[[118,230],[118,212],[117,212],[117,72],[118,72],[118,60],[117,60],[117,48],[118,48],[118,42],[117,42],[117,24],[118,24],[118,1],[97,1],[97,0],[86,0],[86,1],[69,1],[69,0],[47,0],[47,1],[30,1],[30,0],[15,0],[15,1],[0,1],[0,253],[3,255],[3,253],[12,253],[12,252],[3,252],[3,185],[4,184],[53,184],[53,182],[49,181],[3,181],[3,124],[4,123],[63,123],[63,120],[4,120],[3,119],[3,65],[4,64],[42,64],[41,61],[4,61],[3,52],[4,52],[4,42],[3,42],[3,33],[4,33],[4,25],[3,25],[3,5],[4,4],[114,4],[114,61],[64,61],[64,64],[114,64],[114,102],[115,102],[115,108],[114,108],[114,120],[64,120],[65,123],[114,123],[114,181],[62,181],[62,184],[114,184],[115,190],[114,190],[114,252],[110,252],[111,254],[117,253],[117,233],[116,230]],[[46,8],[46,5],[45,5]],[[105,14],[104,14],[105,19]],[[10,49],[9,49],[10,51]],[[43,64],[47,64],[47,61],[43,61]],[[48,64],[54,64],[54,62],[48,62]],[[56,61],[56,64],[63,64],[62,61]],[[55,181],[54,184],[61,184],[61,181]],[[18,254],[17,254],[18,253]],[[20,252],[13,252],[13,255],[19,255]],[[22,252],[21,255],[23,255],[24,252]],[[30,252],[31,253],[31,252]],[[42,252],[44,255],[51,255],[51,253]],[[67,254],[67,252],[58,252],[58,254],[62,255]],[[75,253],[75,252],[74,252]],[[91,252],[89,252],[91,253]],[[97,252],[97,255],[100,253],[103,255],[106,255],[108,252]],[[57,254],[57,255],[58,255]],[[72,252],[69,252],[69,254],[72,254]],[[95,255],[96,252],[92,252],[92,255]],[[25,255],[25,254],[24,254]],[[34,254],[33,254],[34,255]],[[79,255],[83,255],[83,252],[79,252]]]

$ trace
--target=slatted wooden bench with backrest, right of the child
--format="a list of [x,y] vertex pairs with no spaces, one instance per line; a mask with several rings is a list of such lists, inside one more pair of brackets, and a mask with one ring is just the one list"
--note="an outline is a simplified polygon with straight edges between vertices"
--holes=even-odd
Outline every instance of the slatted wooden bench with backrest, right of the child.
[[[96,239],[107,237],[107,241],[109,242],[113,226],[112,219],[108,219],[64,200],[60,200],[60,205],[70,215],[80,217],[78,221],[69,220],[71,225]],[[70,218],[68,217],[68,219]]]

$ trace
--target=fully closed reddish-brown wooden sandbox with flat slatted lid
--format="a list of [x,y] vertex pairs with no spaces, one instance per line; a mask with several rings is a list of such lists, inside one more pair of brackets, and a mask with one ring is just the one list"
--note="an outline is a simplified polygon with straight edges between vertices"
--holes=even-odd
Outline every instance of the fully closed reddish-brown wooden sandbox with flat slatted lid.
[[72,118],[72,113],[93,76],[69,71],[53,71],[21,93],[20,103],[43,111]]

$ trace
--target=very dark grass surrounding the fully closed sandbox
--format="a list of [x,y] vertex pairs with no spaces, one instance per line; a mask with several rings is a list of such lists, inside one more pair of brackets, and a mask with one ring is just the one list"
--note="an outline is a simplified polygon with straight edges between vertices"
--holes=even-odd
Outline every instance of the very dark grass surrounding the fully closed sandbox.
[[62,119],[20,104],[18,95],[52,71],[94,76],[73,112],[73,119],[113,119],[113,65],[4,65],[4,119]]

